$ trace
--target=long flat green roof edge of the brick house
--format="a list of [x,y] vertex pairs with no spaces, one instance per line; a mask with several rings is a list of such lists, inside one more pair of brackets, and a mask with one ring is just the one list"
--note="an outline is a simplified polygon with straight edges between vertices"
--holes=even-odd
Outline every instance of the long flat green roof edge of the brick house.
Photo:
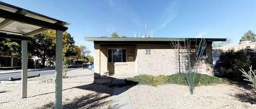
[[[167,38],[167,37],[85,37],[86,41],[184,41],[184,40],[192,40],[192,41],[199,41],[201,38]],[[205,38],[206,41],[226,41],[227,39],[217,39],[217,38]]]

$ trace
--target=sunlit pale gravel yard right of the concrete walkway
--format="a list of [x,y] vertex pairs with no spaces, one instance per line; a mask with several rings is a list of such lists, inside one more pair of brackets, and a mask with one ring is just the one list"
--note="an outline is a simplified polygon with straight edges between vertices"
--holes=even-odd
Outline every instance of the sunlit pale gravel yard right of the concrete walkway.
[[128,89],[129,98],[135,109],[256,108],[256,99],[248,98],[248,93],[247,89],[234,85],[200,86],[195,88],[193,95],[189,94],[186,86],[172,84],[157,87],[137,85]]

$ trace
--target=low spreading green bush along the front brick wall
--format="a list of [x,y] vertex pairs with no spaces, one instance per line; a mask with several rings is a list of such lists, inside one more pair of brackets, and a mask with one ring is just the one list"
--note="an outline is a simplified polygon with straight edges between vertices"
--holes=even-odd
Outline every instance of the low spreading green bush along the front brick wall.
[[[216,76],[210,76],[206,74],[195,73],[197,78],[195,80],[198,85],[215,85],[215,84],[224,84],[225,82],[222,79],[217,78]],[[138,75],[134,78],[128,78],[128,81],[138,82],[138,84],[144,85],[162,85],[162,84],[178,84],[178,85],[187,85],[186,74],[177,73],[172,75]]]

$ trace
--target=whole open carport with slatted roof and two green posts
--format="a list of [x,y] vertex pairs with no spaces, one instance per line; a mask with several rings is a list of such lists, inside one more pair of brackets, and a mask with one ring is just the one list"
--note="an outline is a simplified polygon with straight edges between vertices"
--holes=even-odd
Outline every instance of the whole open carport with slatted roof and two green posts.
[[0,2],[0,38],[21,40],[21,98],[27,98],[27,42],[29,37],[53,29],[56,30],[55,107],[62,108],[62,33],[68,29],[64,27],[66,24],[63,21]]

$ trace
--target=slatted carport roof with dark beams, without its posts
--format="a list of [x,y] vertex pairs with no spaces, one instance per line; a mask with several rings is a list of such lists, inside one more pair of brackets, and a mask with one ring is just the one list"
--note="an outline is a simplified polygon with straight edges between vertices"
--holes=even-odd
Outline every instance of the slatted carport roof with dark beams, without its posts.
[[66,31],[66,22],[0,2],[0,33],[31,36],[54,29]]

